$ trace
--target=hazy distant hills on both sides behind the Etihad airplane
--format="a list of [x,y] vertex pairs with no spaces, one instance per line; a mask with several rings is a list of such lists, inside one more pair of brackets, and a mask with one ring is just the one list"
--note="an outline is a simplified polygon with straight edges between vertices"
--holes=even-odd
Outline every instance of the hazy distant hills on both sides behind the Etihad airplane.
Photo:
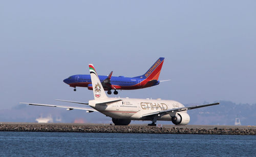
[[[206,104],[204,102],[203,104]],[[242,125],[256,125],[256,104],[236,104],[220,101],[220,105],[188,110],[189,124],[234,125],[239,118]],[[195,104],[185,104],[190,106]],[[77,106],[77,105],[76,105]],[[51,122],[62,123],[111,123],[110,117],[101,113],[86,113],[84,110],[69,110],[55,107],[18,104],[12,109],[0,110],[0,122],[37,122],[38,118],[50,118]],[[133,123],[142,123],[135,121]],[[149,122],[143,122],[149,123]],[[159,122],[172,124],[172,122]]]

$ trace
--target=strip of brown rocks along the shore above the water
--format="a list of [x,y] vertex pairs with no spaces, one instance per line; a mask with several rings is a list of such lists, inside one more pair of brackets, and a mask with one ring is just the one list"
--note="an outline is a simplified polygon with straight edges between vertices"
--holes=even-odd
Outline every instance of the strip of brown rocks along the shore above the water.
[[75,124],[75,123],[0,123],[0,131],[34,132],[102,132],[102,133],[162,133],[162,134],[238,134],[256,135],[255,126],[115,126],[110,124]]

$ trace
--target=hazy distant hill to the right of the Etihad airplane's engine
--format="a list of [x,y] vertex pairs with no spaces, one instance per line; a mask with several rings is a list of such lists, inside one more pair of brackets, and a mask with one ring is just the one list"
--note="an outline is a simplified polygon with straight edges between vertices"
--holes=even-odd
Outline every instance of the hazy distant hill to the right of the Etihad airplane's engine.
[[220,101],[220,105],[188,110],[188,114],[189,124],[234,125],[239,118],[241,125],[256,125],[256,104]]

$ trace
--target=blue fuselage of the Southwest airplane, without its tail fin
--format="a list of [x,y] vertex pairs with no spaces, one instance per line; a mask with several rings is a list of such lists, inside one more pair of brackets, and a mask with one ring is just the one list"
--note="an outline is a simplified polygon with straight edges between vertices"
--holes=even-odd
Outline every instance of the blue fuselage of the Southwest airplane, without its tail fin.
[[[99,79],[102,82],[105,80],[108,76],[102,76],[99,75]],[[88,87],[88,89],[92,88],[92,80],[90,75],[72,75],[69,78],[63,80],[63,82],[69,84],[71,87]],[[141,79],[141,78],[134,78],[134,77],[115,77],[112,76],[110,80],[111,89],[139,89],[139,88],[145,88],[149,86],[158,85],[159,81],[152,81],[148,79]],[[108,91],[109,88],[104,88],[105,91]]]

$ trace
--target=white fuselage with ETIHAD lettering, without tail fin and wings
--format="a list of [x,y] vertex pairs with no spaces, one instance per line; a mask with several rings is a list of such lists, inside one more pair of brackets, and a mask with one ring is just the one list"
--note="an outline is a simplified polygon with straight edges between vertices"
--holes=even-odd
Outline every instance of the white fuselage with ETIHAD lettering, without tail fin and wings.
[[[115,100],[120,101],[106,102]],[[131,98],[107,98],[101,101],[90,100],[89,105],[100,113],[111,118],[130,120],[152,120],[151,117],[142,116],[145,114],[155,113],[156,111],[184,107],[184,105],[174,100]],[[186,113],[187,111],[185,110],[181,112]],[[172,121],[172,118],[167,114],[159,117],[157,120]]]

